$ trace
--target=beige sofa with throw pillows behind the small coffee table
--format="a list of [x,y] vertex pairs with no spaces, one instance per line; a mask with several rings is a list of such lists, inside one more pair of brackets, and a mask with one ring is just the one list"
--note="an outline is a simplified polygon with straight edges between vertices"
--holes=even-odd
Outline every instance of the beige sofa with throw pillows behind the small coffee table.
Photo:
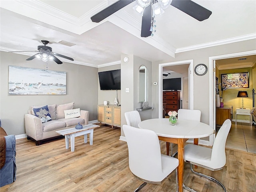
[[[72,128],[78,124],[88,124],[89,111],[80,110],[80,116],[75,118],[65,118],[64,110],[71,110],[74,108],[74,102],[60,105],[48,105],[49,114],[52,120],[43,122],[34,115],[33,108],[40,108],[42,106],[31,106],[28,114],[25,114],[25,128],[27,139],[36,141],[36,145],[41,145],[43,141],[61,137],[56,133],[57,130]],[[63,136],[62,136],[63,137]]]

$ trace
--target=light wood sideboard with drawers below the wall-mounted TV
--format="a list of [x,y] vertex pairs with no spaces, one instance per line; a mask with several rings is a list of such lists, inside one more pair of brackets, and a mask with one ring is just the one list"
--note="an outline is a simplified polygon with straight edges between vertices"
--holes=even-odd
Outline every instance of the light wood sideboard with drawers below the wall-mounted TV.
[[98,122],[113,126],[121,126],[121,106],[98,105]]

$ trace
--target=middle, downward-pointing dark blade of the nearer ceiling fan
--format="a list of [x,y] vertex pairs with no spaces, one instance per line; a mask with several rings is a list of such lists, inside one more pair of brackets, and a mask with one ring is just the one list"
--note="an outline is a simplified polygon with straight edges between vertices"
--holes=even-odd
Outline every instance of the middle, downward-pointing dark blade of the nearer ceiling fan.
[[147,6],[144,10],[143,16],[142,16],[142,22],[141,22],[141,37],[148,37],[151,35],[150,27],[151,27],[151,20],[152,20],[152,14],[151,14],[151,4]]

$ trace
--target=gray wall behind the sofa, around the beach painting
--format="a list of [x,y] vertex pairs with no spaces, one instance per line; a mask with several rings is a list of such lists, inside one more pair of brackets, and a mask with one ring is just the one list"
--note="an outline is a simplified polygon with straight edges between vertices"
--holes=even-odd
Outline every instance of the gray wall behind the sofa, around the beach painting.
[[67,72],[66,95],[8,95],[8,66],[44,69],[44,62],[29,56],[0,52],[0,118],[7,134],[25,134],[24,114],[29,106],[74,102],[74,108],[88,110],[89,121],[97,120],[98,68],[63,62],[48,63],[48,70]]

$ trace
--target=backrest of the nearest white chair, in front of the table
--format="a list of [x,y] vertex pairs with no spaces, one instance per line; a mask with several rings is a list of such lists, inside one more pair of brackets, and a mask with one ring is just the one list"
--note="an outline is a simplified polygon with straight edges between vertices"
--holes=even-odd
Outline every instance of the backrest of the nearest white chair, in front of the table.
[[152,130],[123,125],[128,145],[129,167],[139,178],[156,181],[162,175],[160,144]]

